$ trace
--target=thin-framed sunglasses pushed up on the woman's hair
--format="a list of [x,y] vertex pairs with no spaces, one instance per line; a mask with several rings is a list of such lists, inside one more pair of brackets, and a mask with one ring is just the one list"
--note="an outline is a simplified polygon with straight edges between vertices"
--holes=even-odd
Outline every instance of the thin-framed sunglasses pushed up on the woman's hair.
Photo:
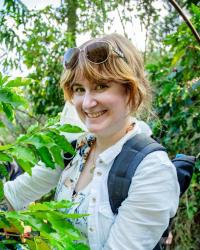
[[65,52],[63,59],[63,65],[65,69],[72,69],[74,66],[76,66],[79,54],[82,51],[85,53],[88,61],[94,64],[106,62],[112,52],[127,62],[127,59],[119,49],[114,48],[109,42],[98,41],[87,45],[84,49],[69,48]]

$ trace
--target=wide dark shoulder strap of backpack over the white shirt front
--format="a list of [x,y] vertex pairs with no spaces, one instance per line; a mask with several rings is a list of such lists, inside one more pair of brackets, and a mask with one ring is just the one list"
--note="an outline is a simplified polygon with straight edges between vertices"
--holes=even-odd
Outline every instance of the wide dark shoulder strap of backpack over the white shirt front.
[[114,214],[128,196],[132,177],[140,162],[154,151],[165,151],[165,148],[145,134],[137,134],[128,140],[120,154],[115,158],[108,175],[108,194]]

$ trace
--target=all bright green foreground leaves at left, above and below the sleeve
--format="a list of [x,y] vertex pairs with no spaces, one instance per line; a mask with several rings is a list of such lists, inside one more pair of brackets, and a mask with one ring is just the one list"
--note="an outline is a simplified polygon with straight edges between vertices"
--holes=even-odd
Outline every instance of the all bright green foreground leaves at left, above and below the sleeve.
[[[10,121],[15,121],[16,108],[28,107],[27,101],[20,95],[20,88],[31,82],[31,79],[19,77],[10,80],[0,74],[1,113]],[[39,161],[52,169],[57,165],[64,168],[63,153],[75,154],[63,135],[65,132],[79,133],[82,130],[70,124],[60,125],[57,116],[48,119],[44,125],[33,124],[26,134],[18,136],[13,143],[0,145],[0,201],[4,199],[2,179],[9,180],[6,168],[9,162],[17,162],[30,175]],[[26,211],[0,211],[0,228],[3,228],[0,232],[0,237],[3,236],[0,248],[18,249],[23,246],[23,249],[31,250],[88,249],[79,243],[83,237],[71,223],[71,220],[86,215],[66,213],[72,205],[69,201],[52,201],[32,204]],[[24,234],[26,226],[31,227],[31,232]]]

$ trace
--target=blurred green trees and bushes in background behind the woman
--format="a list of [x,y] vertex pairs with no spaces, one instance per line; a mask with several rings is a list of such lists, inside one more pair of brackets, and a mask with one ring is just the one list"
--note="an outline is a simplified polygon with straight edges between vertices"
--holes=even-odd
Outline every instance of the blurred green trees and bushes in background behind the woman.
[[[149,120],[154,135],[171,155],[182,152],[198,156],[200,45],[169,2],[161,2],[167,13],[165,16],[160,15],[157,2],[63,0],[57,8],[29,10],[22,1],[5,0],[0,11],[1,70],[3,75],[15,69],[25,70],[32,81],[19,90],[30,107],[15,107],[15,113],[10,112],[7,117],[0,114],[2,143],[13,142],[30,124],[35,121],[44,124],[48,117],[62,110],[63,95],[58,82],[63,52],[76,45],[80,34],[87,32],[91,37],[103,34],[105,24],[114,25],[111,13],[115,11],[125,36],[131,37],[128,24],[133,24],[134,31],[133,16],[146,32],[142,53],[155,93],[154,110],[158,118]],[[200,32],[199,1],[180,0],[178,3]],[[182,198],[175,219],[172,249],[199,249],[199,170],[198,161],[192,184]]]

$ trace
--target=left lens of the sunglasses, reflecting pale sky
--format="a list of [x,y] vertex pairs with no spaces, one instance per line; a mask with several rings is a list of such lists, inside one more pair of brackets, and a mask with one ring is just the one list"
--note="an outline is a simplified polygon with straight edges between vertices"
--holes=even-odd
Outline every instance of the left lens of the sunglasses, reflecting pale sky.
[[70,48],[68,49],[63,58],[63,65],[66,69],[73,68],[76,62],[78,61],[79,49],[78,48]]

